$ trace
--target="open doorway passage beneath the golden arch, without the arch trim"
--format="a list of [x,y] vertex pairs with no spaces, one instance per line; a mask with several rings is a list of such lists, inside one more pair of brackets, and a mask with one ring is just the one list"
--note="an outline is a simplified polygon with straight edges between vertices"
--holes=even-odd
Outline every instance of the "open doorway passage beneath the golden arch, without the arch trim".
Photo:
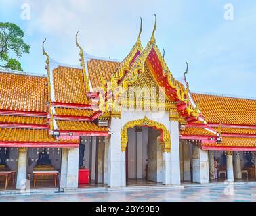
[[150,186],[163,182],[160,135],[160,131],[152,127],[128,129],[125,160],[127,186]]

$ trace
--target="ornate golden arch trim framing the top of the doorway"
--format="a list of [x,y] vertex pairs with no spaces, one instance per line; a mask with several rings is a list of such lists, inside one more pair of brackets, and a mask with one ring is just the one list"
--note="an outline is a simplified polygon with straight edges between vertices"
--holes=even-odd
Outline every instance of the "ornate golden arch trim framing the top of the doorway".
[[128,142],[128,128],[133,128],[135,126],[148,126],[161,131],[160,143],[164,152],[171,151],[171,139],[169,130],[165,126],[157,121],[152,121],[148,117],[143,119],[128,121],[123,128],[121,128],[121,151],[126,151]]

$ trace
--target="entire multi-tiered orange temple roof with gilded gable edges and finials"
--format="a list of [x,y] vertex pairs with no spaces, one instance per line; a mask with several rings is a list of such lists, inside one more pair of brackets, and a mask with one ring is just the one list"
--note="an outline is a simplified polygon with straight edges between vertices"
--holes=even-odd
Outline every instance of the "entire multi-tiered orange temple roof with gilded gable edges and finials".
[[[109,136],[108,128],[98,126],[103,112],[97,88],[108,81],[127,88],[150,72],[187,123],[180,130],[182,139],[201,140],[204,149],[256,150],[256,101],[191,94],[186,79],[183,85],[173,78],[156,45],[155,31],[156,22],[144,49],[141,22],[137,41],[121,62],[88,55],[77,42],[80,66],[53,64],[43,49],[47,76],[0,71],[0,146],[68,147],[78,146],[79,136]],[[60,132],[59,138],[51,135],[54,131]]]

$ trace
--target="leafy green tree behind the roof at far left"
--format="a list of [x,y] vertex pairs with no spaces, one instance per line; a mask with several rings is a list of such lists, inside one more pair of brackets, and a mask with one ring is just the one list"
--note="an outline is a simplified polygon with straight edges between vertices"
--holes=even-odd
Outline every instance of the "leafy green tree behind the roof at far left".
[[9,22],[0,22],[0,68],[22,70],[17,59],[9,56],[14,53],[21,57],[22,53],[29,53],[29,45],[24,43],[24,32],[19,26]]

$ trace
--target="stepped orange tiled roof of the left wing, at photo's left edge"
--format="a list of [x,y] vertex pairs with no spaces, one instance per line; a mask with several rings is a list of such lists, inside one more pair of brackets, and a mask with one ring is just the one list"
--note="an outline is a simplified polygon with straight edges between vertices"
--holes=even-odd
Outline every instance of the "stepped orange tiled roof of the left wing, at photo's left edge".
[[47,78],[0,72],[0,146],[74,146],[49,134]]

